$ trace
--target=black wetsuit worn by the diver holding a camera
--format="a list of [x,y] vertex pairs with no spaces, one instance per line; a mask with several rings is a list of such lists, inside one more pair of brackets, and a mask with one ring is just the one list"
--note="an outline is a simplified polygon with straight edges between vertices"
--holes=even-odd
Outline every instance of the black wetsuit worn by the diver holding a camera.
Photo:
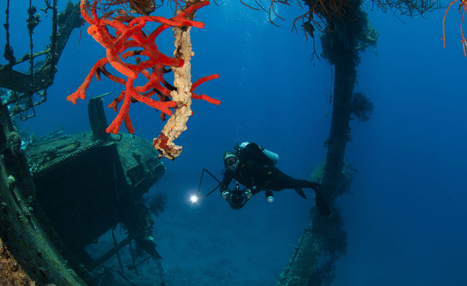
[[331,214],[331,210],[323,198],[320,184],[294,179],[277,167],[269,166],[265,168],[251,159],[240,160],[235,172],[227,170],[224,173],[220,186],[221,193],[228,188],[230,182],[234,179],[250,189],[253,194],[262,190],[282,191],[283,189],[295,189],[300,196],[306,199],[302,188],[312,188],[316,192],[316,207],[319,212],[322,215]]

